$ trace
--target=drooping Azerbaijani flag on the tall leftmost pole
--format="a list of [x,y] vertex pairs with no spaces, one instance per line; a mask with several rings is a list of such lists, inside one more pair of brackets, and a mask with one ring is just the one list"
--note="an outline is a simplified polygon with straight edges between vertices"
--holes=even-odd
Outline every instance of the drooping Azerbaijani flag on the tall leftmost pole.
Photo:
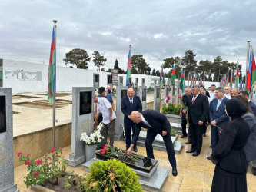
[[52,45],[48,68],[48,101],[54,103],[56,81],[56,38],[55,27],[52,30]]

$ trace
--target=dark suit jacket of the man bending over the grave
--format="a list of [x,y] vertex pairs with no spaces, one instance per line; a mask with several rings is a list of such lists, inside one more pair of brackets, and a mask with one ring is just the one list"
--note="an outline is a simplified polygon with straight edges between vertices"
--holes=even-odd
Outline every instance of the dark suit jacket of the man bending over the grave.
[[136,144],[138,140],[138,136],[140,133],[139,127],[144,127],[151,129],[152,131],[157,132],[158,134],[162,135],[161,131],[168,131],[171,132],[171,124],[166,118],[165,114],[161,114],[158,111],[152,110],[152,109],[146,109],[145,111],[141,111],[141,114],[145,118],[145,120],[148,122],[148,124],[151,127],[145,126],[144,124],[137,124],[138,127],[135,128],[135,136],[132,137],[131,144]]

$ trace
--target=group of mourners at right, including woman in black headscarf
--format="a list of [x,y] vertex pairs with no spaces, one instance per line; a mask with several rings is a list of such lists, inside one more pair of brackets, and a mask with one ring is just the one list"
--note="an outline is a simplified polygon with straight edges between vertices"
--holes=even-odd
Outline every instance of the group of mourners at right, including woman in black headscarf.
[[208,92],[203,85],[194,85],[185,89],[182,102],[186,108],[180,112],[181,137],[188,137],[185,144],[191,144],[187,153],[200,154],[211,124],[212,153],[207,159],[216,164],[211,191],[247,191],[248,163],[256,160],[256,105],[248,92],[214,84]]

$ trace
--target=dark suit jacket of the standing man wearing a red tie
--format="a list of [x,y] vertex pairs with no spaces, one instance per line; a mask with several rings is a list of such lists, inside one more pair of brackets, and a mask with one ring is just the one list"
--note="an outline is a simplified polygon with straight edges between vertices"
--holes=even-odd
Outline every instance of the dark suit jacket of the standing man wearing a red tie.
[[192,104],[193,98],[194,95],[188,98],[188,121],[198,124],[199,120],[205,121],[209,110],[209,102],[207,96],[204,94],[198,94],[198,97],[194,100],[194,104]]

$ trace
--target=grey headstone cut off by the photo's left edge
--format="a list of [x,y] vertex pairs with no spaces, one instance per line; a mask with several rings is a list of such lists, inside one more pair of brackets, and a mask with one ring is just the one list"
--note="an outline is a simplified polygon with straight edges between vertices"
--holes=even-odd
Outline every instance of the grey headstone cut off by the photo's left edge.
[[12,88],[0,88],[0,191],[18,191],[14,183]]

